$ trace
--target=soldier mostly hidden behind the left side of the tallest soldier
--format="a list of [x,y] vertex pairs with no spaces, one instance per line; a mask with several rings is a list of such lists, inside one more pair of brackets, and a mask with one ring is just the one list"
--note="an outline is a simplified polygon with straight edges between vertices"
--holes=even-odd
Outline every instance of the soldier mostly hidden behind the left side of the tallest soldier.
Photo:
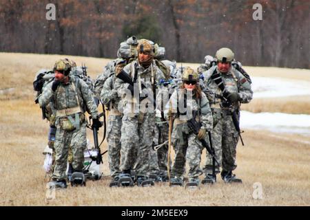
[[125,65],[136,58],[136,45],[138,41],[135,36],[130,37],[127,41],[120,44],[117,56],[114,61],[105,66],[105,72],[96,80],[96,92],[100,91],[101,102],[109,110],[107,118],[107,152],[110,164],[110,173],[112,181],[110,186],[115,186],[118,182],[120,174],[119,164],[121,158],[121,126],[123,114],[118,111],[118,103],[120,98],[114,88],[116,80],[115,72],[123,69]]

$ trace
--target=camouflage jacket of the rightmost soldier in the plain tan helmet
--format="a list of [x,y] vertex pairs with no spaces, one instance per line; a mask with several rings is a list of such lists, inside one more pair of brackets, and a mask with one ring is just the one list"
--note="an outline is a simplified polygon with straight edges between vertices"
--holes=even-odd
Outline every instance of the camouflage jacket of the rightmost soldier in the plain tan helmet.
[[[214,109],[220,109],[220,104],[223,100],[220,98],[223,96],[222,91],[218,88],[218,85],[211,79],[211,75],[217,67],[211,67],[206,72],[203,72],[203,91],[207,95],[210,102],[210,107]],[[221,74],[225,88],[229,92],[238,92],[241,103],[248,103],[253,98],[253,91],[251,90],[251,84],[247,81],[247,78],[243,76],[234,67],[231,67],[227,74]],[[233,108],[238,109],[238,102],[234,102]]]

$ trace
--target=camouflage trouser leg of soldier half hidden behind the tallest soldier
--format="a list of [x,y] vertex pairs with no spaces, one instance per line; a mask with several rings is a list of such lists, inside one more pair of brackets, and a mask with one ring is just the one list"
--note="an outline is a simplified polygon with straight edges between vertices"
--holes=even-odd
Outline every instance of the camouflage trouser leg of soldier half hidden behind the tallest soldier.
[[121,115],[109,115],[107,120],[107,153],[110,164],[110,173],[116,177],[119,173],[121,159]]

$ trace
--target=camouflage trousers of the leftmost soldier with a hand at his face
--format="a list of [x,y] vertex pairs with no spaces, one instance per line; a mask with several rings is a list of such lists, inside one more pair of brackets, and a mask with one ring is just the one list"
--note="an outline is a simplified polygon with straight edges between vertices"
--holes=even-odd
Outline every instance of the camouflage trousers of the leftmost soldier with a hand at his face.
[[82,170],[84,163],[84,150],[86,148],[86,122],[81,124],[79,129],[74,131],[64,131],[57,124],[55,149],[55,168],[52,179],[66,179],[65,170],[67,169],[68,153],[72,149],[72,166],[74,170]]

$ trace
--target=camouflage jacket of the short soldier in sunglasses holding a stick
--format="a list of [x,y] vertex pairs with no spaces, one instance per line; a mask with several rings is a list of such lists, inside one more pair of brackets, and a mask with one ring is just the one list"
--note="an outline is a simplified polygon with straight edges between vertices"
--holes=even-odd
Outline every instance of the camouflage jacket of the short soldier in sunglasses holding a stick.
[[[189,128],[185,122],[192,119],[193,112],[197,111],[198,117],[196,116],[196,121],[200,122],[201,129],[207,129],[207,131],[211,131],[213,128],[213,118],[211,109],[209,107],[209,101],[203,92],[201,95],[202,97],[197,99],[194,97],[194,92],[187,91],[186,89],[177,89],[174,91],[171,98],[169,99],[169,102],[165,106],[165,118],[169,120],[168,113],[171,104],[171,111],[174,115],[176,115],[174,124],[176,126],[178,124],[183,124],[183,128],[188,130]],[[184,103],[185,101],[186,104]]]

